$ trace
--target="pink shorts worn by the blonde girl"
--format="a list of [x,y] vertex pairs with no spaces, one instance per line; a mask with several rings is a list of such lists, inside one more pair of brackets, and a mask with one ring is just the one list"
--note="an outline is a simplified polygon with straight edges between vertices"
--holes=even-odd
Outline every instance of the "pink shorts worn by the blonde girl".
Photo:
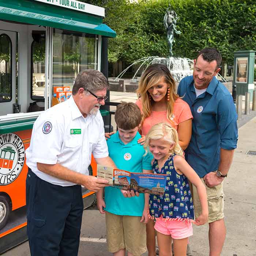
[[173,239],[183,239],[193,235],[192,222],[187,221],[165,221],[161,216],[155,221],[155,230]]

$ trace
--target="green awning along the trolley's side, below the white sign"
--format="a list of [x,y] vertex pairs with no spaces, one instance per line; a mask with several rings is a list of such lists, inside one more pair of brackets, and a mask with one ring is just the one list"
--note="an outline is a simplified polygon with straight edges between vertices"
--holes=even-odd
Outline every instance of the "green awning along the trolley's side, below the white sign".
[[116,37],[100,16],[31,0],[0,0],[0,19]]

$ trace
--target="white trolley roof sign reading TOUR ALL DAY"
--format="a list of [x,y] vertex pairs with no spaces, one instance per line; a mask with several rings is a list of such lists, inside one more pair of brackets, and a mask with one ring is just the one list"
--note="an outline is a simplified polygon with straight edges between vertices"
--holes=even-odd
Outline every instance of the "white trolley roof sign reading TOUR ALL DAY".
[[86,4],[76,0],[35,0],[47,4],[57,5],[59,7],[69,8],[75,11],[86,12],[89,14],[105,17],[105,9],[96,5]]

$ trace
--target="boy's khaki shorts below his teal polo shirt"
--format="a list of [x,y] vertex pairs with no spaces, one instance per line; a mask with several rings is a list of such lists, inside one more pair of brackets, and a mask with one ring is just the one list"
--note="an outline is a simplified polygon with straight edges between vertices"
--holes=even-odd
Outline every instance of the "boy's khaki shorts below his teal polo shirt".
[[126,249],[134,256],[147,251],[146,225],[141,217],[116,215],[106,211],[106,229],[109,252]]

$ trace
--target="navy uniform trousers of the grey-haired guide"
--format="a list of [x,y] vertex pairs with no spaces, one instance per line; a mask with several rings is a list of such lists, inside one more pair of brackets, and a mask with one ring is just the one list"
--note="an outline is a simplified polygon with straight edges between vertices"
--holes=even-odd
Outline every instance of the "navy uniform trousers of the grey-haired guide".
[[29,169],[26,203],[31,256],[78,255],[83,214],[81,186],[53,185]]

